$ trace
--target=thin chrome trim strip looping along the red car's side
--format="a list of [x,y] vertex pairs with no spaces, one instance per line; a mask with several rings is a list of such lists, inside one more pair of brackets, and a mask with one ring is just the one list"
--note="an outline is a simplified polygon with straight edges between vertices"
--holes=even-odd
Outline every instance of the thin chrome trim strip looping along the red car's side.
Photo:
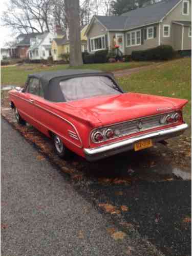
[[[77,136],[78,136],[78,140],[79,140],[80,143],[81,143],[81,146],[77,145],[76,143],[72,142],[71,140],[68,140],[66,137],[63,137],[63,136],[59,135],[57,132],[55,132],[55,131],[53,131],[53,130],[52,130],[52,132],[55,133],[55,134],[57,134],[58,136],[62,137],[63,139],[66,139],[66,140],[68,140],[69,142],[73,143],[73,144],[76,145],[76,147],[78,147],[78,148],[82,148],[82,147],[83,147],[81,138],[80,138],[80,136],[79,136],[79,134],[78,134],[78,131],[77,131],[77,129],[76,129],[76,127],[75,127],[75,125],[74,125],[73,123],[71,123],[71,122],[68,121],[67,119],[65,119],[65,118],[63,118],[63,117],[61,117],[61,116],[59,116],[59,115],[53,113],[52,111],[49,111],[49,110],[46,109],[45,107],[41,107],[41,106],[35,104],[34,102],[30,102],[29,100],[23,99],[22,97],[19,97],[19,96],[17,96],[17,95],[11,94],[11,93],[10,93],[10,95],[12,95],[12,96],[14,96],[14,97],[17,97],[17,98],[19,98],[19,99],[22,99],[22,100],[24,100],[24,101],[27,101],[28,103],[31,103],[31,104],[33,104],[33,105],[39,107],[39,108],[42,108],[42,109],[44,109],[45,111],[47,111],[48,113],[50,113],[50,114],[52,114],[52,115],[54,115],[54,116],[56,116],[56,117],[58,117],[58,118],[60,118],[60,119],[62,119],[62,120],[64,120],[64,121],[68,122],[68,123],[73,127],[73,129],[75,130],[75,132],[76,132],[76,134],[77,134]],[[21,111],[20,109],[18,109],[18,110],[19,110],[20,112],[23,112],[24,115],[29,116],[29,115],[27,115],[24,111]],[[46,129],[48,129],[48,130],[51,131],[51,129],[49,129],[49,127],[46,126],[45,124],[42,124],[40,121],[37,121],[36,119],[32,118],[31,116],[29,116],[29,117],[30,117],[31,119],[33,119],[35,122],[40,123],[42,126],[46,127]]]

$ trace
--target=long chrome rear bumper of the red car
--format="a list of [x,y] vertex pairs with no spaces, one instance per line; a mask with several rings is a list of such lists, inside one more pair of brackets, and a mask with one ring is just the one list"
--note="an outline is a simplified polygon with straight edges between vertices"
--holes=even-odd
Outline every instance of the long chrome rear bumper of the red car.
[[147,134],[142,134],[139,136],[135,136],[133,138],[102,145],[97,148],[84,149],[84,154],[88,161],[99,160],[108,156],[116,155],[124,151],[133,150],[134,144],[141,140],[152,139],[153,143],[155,143],[164,139],[176,137],[178,135],[181,135],[187,128],[188,125],[186,123],[183,123],[178,126],[170,127],[164,130],[155,131]]

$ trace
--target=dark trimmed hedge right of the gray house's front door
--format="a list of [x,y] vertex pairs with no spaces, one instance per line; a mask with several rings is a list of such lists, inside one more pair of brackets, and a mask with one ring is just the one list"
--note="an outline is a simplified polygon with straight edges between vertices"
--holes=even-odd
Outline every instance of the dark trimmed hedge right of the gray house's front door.
[[174,57],[175,51],[170,45],[160,45],[155,48],[132,51],[132,60],[151,61],[151,60],[169,60]]

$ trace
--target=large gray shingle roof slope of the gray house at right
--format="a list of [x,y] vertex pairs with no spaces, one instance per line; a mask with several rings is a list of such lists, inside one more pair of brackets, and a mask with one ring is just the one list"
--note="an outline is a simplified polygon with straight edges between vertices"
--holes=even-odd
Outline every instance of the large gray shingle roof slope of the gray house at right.
[[125,12],[121,16],[96,16],[109,30],[131,29],[159,22],[180,0],[165,0]]

